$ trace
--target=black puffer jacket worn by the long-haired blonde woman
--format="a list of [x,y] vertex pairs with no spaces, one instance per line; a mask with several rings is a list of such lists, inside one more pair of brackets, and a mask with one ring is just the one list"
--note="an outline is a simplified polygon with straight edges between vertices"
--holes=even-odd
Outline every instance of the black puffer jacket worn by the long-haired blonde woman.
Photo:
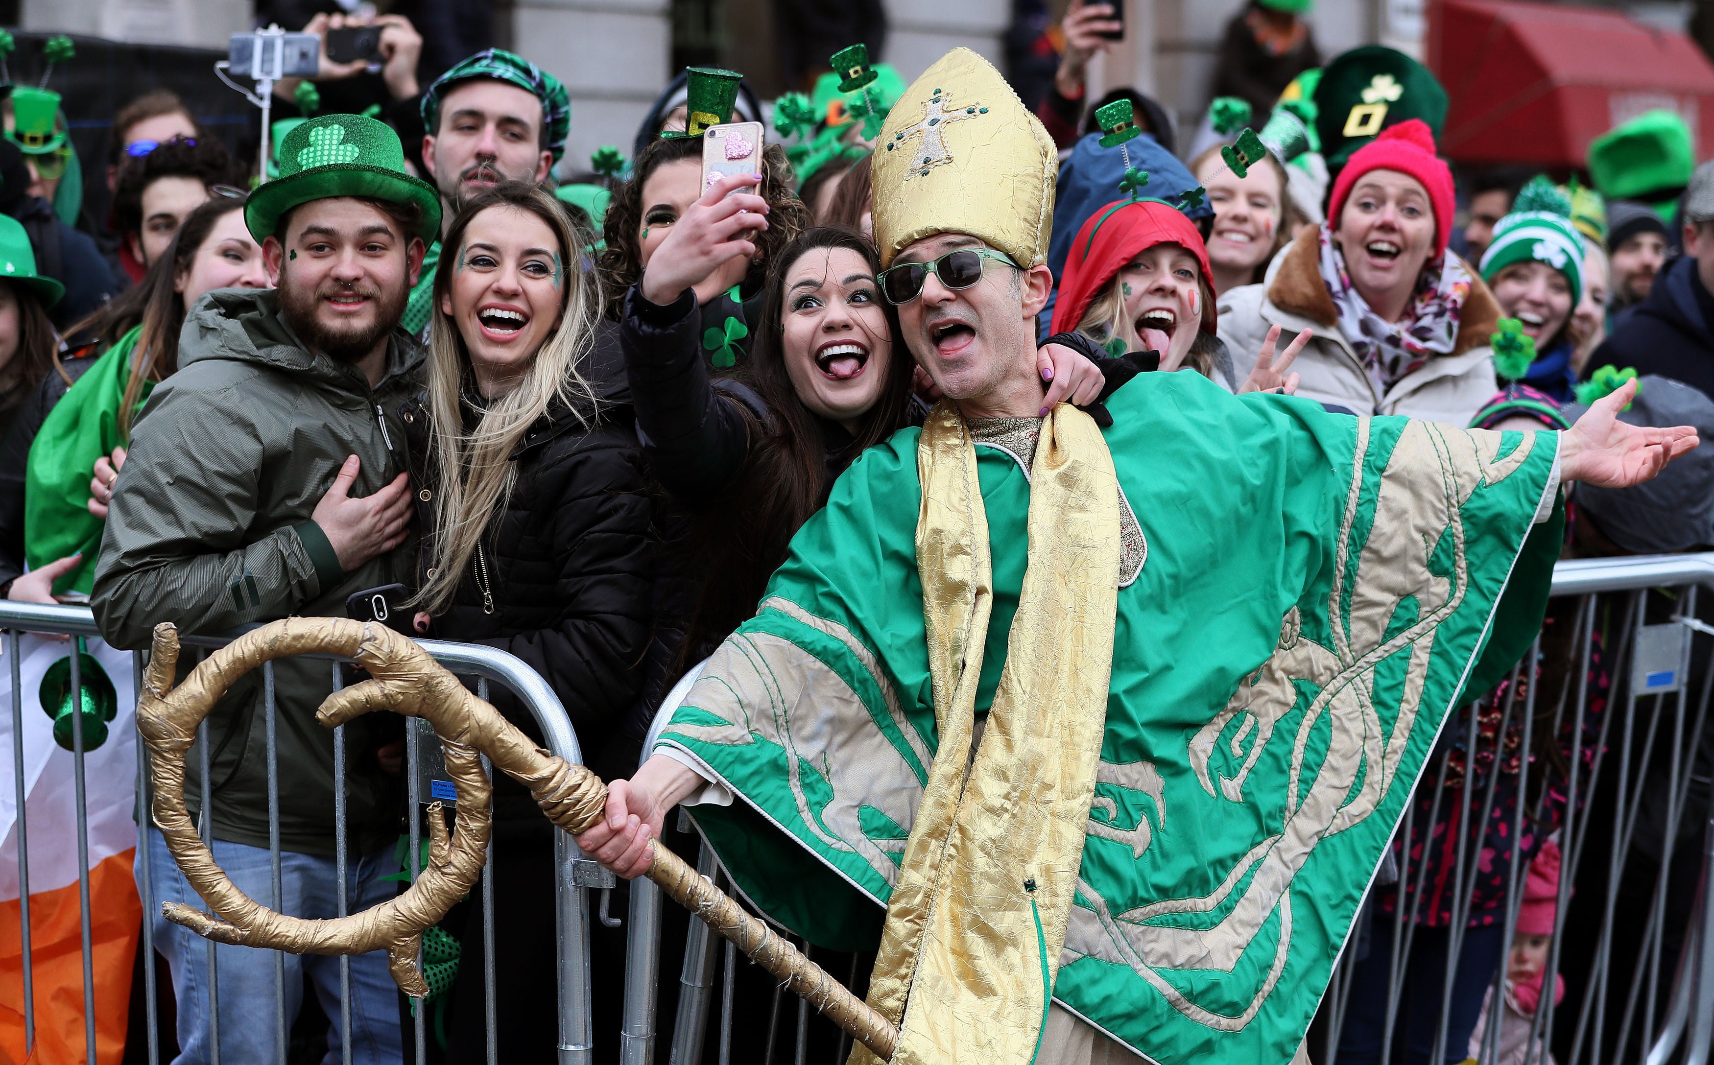
[[[622,388],[608,384],[598,394],[605,400],[593,429],[554,408],[524,436],[506,511],[490,521],[480,554],[430,635],[487,643],[523,659],[566,705],[584,763],[610,779],[615,770],[620,777],[636,770],[634,744],[619,737],[650,638],[653,502]],[[439,482],[428,461],[425,396],[408,401],[399,417],[411,441],[417,528],[427,544]],[[418,580],[427,580],[430,564],[425,549]],[[512,724],[540,739],[530,712],[509,693],[495,688],[492,698]],[[542,815],[523,787],[502,779],[495,816]]]

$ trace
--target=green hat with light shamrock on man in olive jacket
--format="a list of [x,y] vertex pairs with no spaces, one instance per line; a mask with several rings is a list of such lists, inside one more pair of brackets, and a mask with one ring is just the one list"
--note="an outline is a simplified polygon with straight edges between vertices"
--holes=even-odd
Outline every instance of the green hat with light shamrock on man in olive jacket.
[[317,115],[286,134],[279,142],[279,178],[250,194],[243,223],[261,244],[291,208],[336,196],[417,204],[423,213],[417,235],[434,240],[440,232],[440,194],[405,171],[399,135],[363,115]]

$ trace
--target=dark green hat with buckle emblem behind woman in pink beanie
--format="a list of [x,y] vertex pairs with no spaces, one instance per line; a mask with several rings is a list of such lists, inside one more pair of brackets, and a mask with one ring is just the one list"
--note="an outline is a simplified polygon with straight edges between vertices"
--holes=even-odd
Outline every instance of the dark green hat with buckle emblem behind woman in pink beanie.
[[1421,118],[1440,141],[1447,122],[1447,91],[1428,67],[1385,45],[1340,53],[1321,69],[1315,86],[1315,130],[1328,170],[1388,125]]

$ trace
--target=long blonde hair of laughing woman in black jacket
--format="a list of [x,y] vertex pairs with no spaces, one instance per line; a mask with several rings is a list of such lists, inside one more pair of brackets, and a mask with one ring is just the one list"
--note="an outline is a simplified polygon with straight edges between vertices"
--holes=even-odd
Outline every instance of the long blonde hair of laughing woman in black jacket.
[[[475,374],[464,338],[458,324],[442,314],[440,304],[451,292],[464,232],[488,208],[535,214],[554,230],[564,285],[559,326],[542,341],[523,379],[488,403],[476,425],[466,432],[466,396],[475,389]],[[566,406],[583,429],[595,422],[595,389],[578,369],[595,343],[595,322],[602,316],[600,285],[584,269],[581,252],[593,240],[593,235],[578,232],[559,201],[540,185],[504,182],[470,197],[440,245],[428,329],[430,465],[439,490],[434,537],[425,545],[428,580],[413,600],[430,614],[442,612],[452,602],[482,535],[506,508],[518,480],[512,454],[530,427],[555,403]]]

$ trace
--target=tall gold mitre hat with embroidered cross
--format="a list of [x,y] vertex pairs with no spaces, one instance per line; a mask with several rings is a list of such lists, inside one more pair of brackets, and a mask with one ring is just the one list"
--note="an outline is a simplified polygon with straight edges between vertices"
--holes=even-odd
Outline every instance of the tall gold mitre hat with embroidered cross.
[[986,58],[953,48],[893,105],[874,151],[881,266],[934,233],[968,233],[1018,266],[1047,262],[1059,151]]

